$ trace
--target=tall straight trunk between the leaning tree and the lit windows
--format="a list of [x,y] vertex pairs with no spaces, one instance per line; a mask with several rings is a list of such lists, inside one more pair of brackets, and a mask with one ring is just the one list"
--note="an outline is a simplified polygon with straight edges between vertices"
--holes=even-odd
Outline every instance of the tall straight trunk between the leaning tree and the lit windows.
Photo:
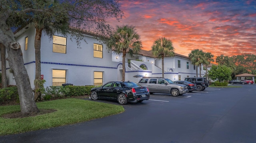
[[[35,35],[35,59],[36,59],[36,77],[35,80],[41,80],[41,36],[42,36],[42,29],[36,28],[36,35]],[[35,84],[35,100],[40,101],[40,91],[39,89],[39,82],[34,82]]]

